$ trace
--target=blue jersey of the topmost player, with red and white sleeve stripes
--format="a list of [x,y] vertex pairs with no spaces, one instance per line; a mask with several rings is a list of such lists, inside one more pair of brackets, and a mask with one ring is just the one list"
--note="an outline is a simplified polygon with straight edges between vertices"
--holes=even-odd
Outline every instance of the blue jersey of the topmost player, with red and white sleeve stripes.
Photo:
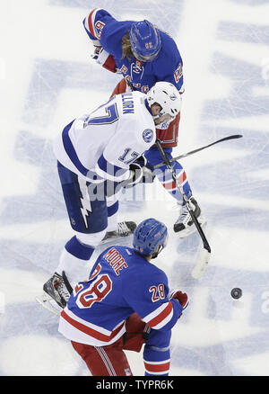
[[[122,58],[122,38],[134,21],[118,22],[106,10],[95,8],[83,20],[91,40],[99,43],[115,60],[117,71],[128,79],[136,90],[146,93],[158,81],[175,85],[183,93],[182,58],[175,41],[160,31],[161,51],[151,62],[142,62],[131,56]],[[116,71],[115,68],[115,71]]]

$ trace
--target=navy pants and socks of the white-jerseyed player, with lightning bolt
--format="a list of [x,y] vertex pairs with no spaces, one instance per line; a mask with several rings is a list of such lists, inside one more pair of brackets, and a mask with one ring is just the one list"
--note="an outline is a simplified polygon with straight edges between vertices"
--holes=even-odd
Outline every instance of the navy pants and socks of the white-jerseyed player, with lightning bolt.
[[80,178],[59,162],[58,175],[62,185],[65,206],[74,237],[66,242],[56,267],[69,282],[79,282],[85,275],[86,263],[106,231],[117,228],[117,196],[106,197],[105,186],[95,186]]

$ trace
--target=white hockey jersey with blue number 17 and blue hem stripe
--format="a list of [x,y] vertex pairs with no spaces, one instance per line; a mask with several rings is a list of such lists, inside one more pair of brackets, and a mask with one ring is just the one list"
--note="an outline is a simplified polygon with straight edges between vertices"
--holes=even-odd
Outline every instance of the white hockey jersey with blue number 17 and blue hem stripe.
[[76,118],[54,141],[57,160],[75,174],[99,183],[121,182],[129,165],[152,147],[156,131],[145,94],[118,94]]

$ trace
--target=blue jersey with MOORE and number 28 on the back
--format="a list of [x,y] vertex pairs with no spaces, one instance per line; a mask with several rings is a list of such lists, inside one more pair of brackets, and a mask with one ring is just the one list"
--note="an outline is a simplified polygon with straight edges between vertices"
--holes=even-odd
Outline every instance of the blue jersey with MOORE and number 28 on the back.
[[110,345],[126,332],[126,318],[136,312],[148,327],[169,330],[183,309],[168,294],[168,278],[160,268],[133,248],[110,246],[89,280],[76,284],[58,329],[75,342]]

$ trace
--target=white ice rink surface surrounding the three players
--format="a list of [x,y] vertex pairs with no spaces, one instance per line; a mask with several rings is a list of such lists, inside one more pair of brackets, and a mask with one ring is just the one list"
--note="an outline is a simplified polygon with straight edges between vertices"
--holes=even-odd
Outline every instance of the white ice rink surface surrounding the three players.
[[[200,237],[178,239],[178,210],[161,185],[148,184],[143,199],[138,187],[137,201],[122,195],[119,219],[168,225],[156,264],[190,297],[173,329],[170,375],[269,375],[268,0],[1,1],[0,375],[89,374],[35,296],[72,235],[52,139],[120,79],[90,57],[82,20],[97,6],[118,20],[149,19],[178,43],[186,93],[174,156],[243,135],[181,161],[212,246],[199,280],[190,273]],[[143,375],[142,354],[127,356]]]

